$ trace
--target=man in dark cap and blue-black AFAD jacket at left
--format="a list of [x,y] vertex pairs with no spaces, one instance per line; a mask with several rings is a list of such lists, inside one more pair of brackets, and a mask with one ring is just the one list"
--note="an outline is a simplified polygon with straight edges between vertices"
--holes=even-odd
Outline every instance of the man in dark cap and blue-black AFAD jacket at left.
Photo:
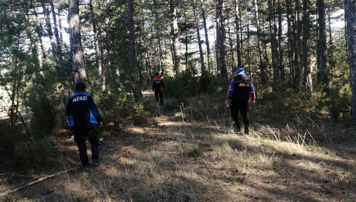
[[[69,97],[66,105],[66,113],[70,117],[69,126],[70,129],[74,130],[74,141],[78,145],[80,161],[83,164],[84,171],[89,170],[90,166],[96,166],[99,163],[99,141],[96,127],[103,125],[93,97],[85,93],[86,88],[83,82],[76,83],[76,93]],[[89,164],[87,154],[87,137],[91,144],[92,164]]]

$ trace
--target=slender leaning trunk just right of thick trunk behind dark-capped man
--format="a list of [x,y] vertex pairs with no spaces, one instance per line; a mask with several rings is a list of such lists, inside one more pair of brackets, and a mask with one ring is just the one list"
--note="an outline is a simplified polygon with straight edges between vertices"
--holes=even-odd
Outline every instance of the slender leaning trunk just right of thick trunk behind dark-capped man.
[[98,31],[96,31],[96,20],[95,20],[95,15],[94,15],[94,9],[93,9],[93,0],[89,1],[89,7],[90,7],[90,13],[91,13],[91,24],[93,26],[93,32],[94,32],[94,45],[95,45],[95,59],[96,59],[96,65],[98,65],[98,75],[99,79],[101,82],[101,89],[105,90],[105,71],[103,69],[103,66],[101,65],[101,55],[100,55],[100,49],[99,49],[99,37],[98,37]]

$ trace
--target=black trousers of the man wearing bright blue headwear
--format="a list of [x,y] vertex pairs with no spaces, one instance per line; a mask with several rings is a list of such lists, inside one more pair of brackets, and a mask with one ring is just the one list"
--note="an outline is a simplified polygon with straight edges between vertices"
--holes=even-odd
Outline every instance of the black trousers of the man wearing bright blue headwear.
[[244,129],[245,133],[248,133],[248,127],[250,126],[250,121],[248,119],[248,111],[250,108],[248,107],[248,100],[236,100],[231,101],[231,117],[232,121],[234,121],[234,127],[240,130],[240,123],[239,123],[239,111],[241,112],[242,118],[244,118]]

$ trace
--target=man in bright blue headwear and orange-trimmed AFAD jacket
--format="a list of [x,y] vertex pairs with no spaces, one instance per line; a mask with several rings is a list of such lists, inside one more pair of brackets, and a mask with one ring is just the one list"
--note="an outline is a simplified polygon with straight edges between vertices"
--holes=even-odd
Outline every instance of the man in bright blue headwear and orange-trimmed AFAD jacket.
[[245,74],[245,68],[238,68],[237,76],[234,76],[231,80],[229,90],[227,91],[225,105],[231,100],[231,116],[234,121],[234,132],[241,132],[239,118],[237,115],[241,112],[242,118],[244,118],[245,134],[250,134],[248,126],[250,121],[248,119],[248,100],[255,102],[256,94],[253,88],[252,80]]

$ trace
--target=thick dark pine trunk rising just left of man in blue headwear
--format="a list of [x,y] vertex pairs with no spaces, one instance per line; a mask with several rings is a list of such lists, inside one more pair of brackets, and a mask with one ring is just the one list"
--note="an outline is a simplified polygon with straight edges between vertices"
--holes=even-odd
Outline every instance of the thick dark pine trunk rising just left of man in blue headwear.
[[221,76],[227,79],[227,50],[226,50],[226,31],[224,16],[224,0],[219,0],[220,16],[220,57],[221,57]]

